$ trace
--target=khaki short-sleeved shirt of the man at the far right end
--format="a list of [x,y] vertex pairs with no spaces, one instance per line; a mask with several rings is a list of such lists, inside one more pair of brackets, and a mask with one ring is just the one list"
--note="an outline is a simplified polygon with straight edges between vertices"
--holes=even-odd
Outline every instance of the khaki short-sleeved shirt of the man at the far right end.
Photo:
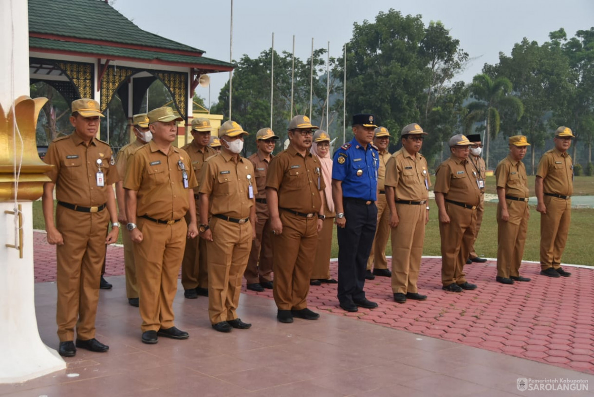
[[536,176],[542,178],[544,193],[573,194],[573,165],[567,152],[562,154],[556,148],[545,152],[538,163]]

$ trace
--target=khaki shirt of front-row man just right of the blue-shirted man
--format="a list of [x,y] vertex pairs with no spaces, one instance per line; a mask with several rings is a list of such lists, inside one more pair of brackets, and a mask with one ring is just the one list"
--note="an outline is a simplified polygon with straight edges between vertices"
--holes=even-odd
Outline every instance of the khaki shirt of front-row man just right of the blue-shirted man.
[[425,156],[411,155],[404,147],[394,153],[386,165],[386,186],[394,188],[396,200],[428,200],[431,180]]

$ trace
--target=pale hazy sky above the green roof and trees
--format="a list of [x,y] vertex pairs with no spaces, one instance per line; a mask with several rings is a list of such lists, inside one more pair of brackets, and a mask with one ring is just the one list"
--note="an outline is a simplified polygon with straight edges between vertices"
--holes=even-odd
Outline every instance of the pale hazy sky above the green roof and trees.
[[[141,29],[200,48],[204,56],[229,61],[230,0],[115,0],[113,7]],[[352,37],[353,23],[370,22],[380,11],[421,14],[426,24],[441,21],[472,62],[457,80],[472,80],[485,63],[498,61],[499,52],[509,54],[523,37],[542,43],[548,33],[564,27],[569,37],[594,26],[594,0],[234,0],[233,59],[246,53],[251,58],[270,48],[292,51],[307,59],[311,39],[315,48],[327,48],[330,56],[342,55],[342,46]],[[211,102],[229,78],[211,74]],[[348,77],[347,77],[348,78]],[[208,88],[197,93],[208,100]]]

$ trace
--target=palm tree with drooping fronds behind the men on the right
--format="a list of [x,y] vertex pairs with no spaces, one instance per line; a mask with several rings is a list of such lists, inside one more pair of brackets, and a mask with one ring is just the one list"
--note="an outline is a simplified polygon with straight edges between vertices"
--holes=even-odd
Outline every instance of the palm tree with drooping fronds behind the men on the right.
[[511,96],[511,81],[507,77],[497,77],[493,80],[486,74],[477,74],[470,84],[470,93],[476,102],[468,104],[469,113],[466,116],[465,133],[470,131],[472,124],[477,121],[485,122],[485,166],[489,168],[489,140],[497,137],[500,127],[500,109],[510,109],[517,115],[517,119],[524,114],[522,101]]

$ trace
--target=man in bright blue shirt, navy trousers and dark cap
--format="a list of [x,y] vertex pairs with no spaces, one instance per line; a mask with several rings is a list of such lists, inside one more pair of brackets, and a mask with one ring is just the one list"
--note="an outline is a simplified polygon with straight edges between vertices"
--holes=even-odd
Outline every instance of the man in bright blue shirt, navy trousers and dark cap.
[[377,223],[377,148],[374,116],[353,116],[355,137],[336,153],[332,165],[332,198],[336,206],[338,237],[338,300],[346,311],[358,306],[376,308],[365,298],[365,270]]

